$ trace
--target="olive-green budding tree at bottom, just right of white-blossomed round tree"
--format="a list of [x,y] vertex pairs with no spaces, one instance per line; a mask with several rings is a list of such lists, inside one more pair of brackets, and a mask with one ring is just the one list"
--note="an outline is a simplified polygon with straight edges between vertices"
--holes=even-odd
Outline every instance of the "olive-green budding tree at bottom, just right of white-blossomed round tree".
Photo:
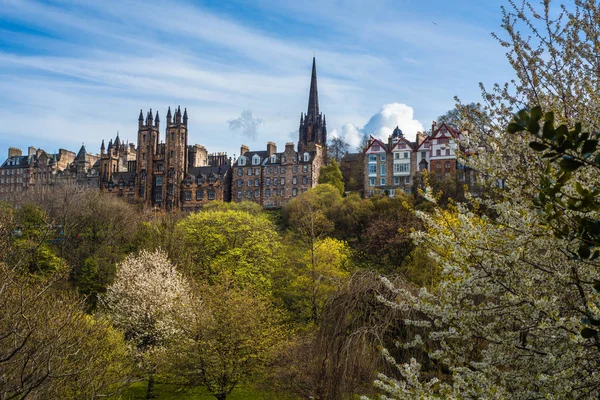
[[283,338],[279,313],[248,290],[200,285],[173,347],[172,372],[218,400],[264,372]]

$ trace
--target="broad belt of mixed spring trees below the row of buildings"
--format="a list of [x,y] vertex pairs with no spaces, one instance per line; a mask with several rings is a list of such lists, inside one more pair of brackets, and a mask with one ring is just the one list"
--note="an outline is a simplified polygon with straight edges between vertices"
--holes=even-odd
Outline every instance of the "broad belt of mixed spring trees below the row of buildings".
[[[280,396],[371,393],[406,335],[376,298],[439,276],[409,198],[321,184],[280,211],[153,214],[75,186],[1,209],[1,398],[118,396],[134,381]],[[409,283],[409,282],[412,282]],[[411,353],[412,354],[412,353]],[[425,362],[425,354],[413,354]]]

